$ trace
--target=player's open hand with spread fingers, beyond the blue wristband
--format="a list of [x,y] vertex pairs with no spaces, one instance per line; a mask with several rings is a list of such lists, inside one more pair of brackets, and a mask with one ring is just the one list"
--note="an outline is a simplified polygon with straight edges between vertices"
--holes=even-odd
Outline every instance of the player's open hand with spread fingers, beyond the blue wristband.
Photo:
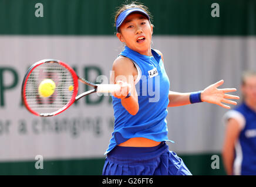
[[237,91],[237,89],[235,88],[218,89],[218,86],[222,85],[223,83],[224,81],[221,80],[204,89],[203,92],[201,92],[201,101],[220,105],[226,109],[230,109],[230,106],[224,105],[223,103],[237,105],[237,102],[231,101],[229,99],[240,99],[239,96],[227,94],[227,92],[235,92]]

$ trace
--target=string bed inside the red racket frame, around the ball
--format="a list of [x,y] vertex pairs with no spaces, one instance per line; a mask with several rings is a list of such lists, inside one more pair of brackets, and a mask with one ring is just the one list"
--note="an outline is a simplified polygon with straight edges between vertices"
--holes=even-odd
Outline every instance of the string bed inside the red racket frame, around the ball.
[[[44,97],[39,93],[39,85],[45,79],[55,83],[52,95]],[[29,107],[37,113],[54,113],[65,107],[73,96],[73,77],[69,70],[59,63],[43,63],[36,67],[26,82],[25,97]]]

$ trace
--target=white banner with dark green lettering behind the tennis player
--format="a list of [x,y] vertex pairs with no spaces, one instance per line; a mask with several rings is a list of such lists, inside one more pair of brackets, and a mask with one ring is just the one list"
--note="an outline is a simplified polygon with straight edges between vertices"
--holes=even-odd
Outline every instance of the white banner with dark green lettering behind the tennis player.
[[[107,84],[123,44],[112,36],[1,36],[0,44],[0,161],[104,157],[113,131],[109,96],[90,95],[58,116],[37,117],[21,104],[21,84],[28,67],[45,58],[62,60],[89,81],[105,75]],[[241,71],[256,69],[255,37],[155,36],[153,47],[164,54],[172,91],[198,91],[220,79],[239,89]],[[220,151],[226,111],[207,103],[170,108],[170,150]]]

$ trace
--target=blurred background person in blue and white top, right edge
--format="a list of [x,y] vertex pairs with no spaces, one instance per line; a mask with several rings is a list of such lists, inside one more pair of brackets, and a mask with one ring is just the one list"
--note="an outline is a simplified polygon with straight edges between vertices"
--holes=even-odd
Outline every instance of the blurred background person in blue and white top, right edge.
[[228,175],[256,175],[256,71],[242,75],[242,103],[224,115],[223,162]]

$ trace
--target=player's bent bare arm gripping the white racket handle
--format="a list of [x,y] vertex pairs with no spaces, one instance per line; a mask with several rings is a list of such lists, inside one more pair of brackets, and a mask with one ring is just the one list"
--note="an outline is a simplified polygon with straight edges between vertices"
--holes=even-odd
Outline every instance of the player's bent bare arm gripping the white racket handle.
[[[133,62],[123,56],[119,56],[113,63],[112,75],[110,76],[112,84],[119,84],[121,86],[120,91],[113,93],[113,96],[121,99],[123,107],[131,115],[136,115],[139,111],[138,95],[135,88],[134,77],[137,76],[137,69],[134,67]],[[127,84],[130,84],[127,86]],[[130,92],[130,97],[126,98]]]

